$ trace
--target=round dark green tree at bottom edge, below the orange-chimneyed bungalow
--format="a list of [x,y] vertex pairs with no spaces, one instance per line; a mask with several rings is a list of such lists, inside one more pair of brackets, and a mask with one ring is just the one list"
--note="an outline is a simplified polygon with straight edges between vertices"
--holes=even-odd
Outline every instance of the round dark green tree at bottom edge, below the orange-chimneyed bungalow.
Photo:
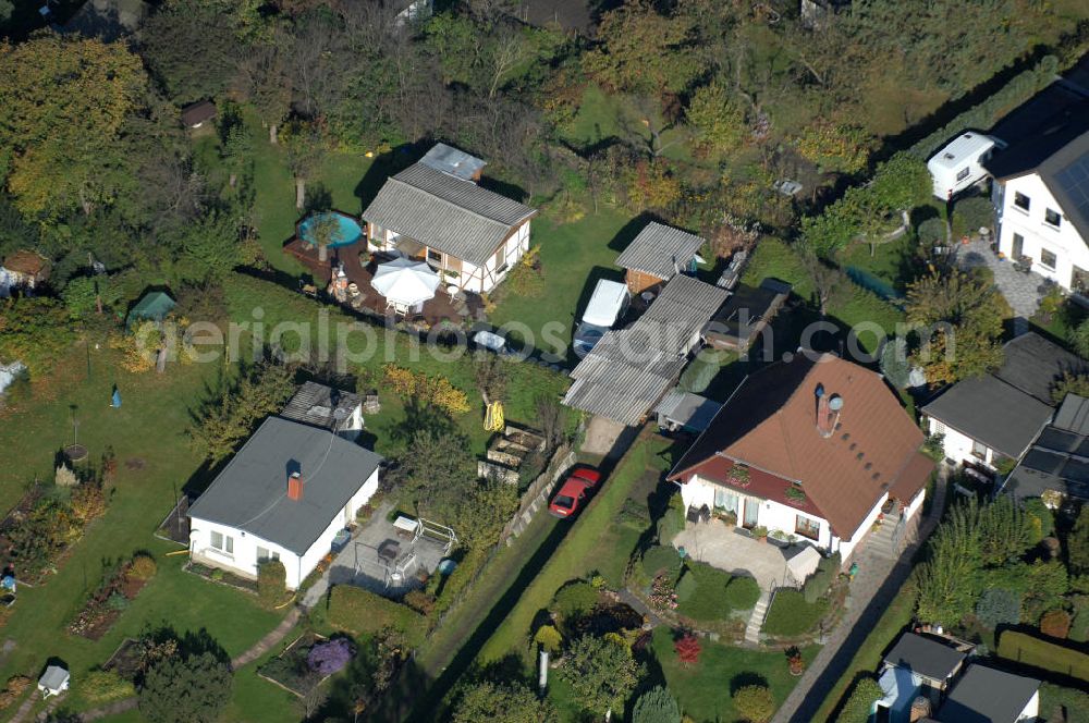
[[231,667],[210,652],[173,655],[144,677],[139,710],[151,723],[213,723],[231,699]]

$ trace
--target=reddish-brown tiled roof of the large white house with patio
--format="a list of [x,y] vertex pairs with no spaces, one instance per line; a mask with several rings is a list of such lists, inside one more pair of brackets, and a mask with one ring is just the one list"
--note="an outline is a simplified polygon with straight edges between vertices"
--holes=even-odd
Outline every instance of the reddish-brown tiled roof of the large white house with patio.
[[[843,400],[830,437],[816,426],[818,384]],[[879,375],[831,354],[798,354],[746,379],[670,479],[699,474],[736,487],[725,473],[738,462],[751,470],[743,491],[823,517],[849,538],[886,490],[906,503],[926,485],[933,462],[919,453],[922,439]],[[794,481],[803,505],[785,498]]]

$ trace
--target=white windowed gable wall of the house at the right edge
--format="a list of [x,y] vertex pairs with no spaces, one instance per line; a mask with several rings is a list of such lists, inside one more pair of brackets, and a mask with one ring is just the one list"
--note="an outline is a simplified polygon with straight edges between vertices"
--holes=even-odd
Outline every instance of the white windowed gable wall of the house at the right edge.
[[[1019,208],[1017,194],[1029,199],[1029,208]],[[999,211],[999,250],[1016,260],[1014,236],[1019,235],[1021,255],[1032,259],[1032,270],[1054,280],[1067,291],[1074,287],[1075,267],[1089,271],[1089,247],[1074,224],[1063,215],[1054,196],[1036,173],[1010,179],[995,194]],[[1044,220],[1048,209],[1057,211],[1057,226]],[[1043,253],[1055,255],[1053,267],[1042,261]]]

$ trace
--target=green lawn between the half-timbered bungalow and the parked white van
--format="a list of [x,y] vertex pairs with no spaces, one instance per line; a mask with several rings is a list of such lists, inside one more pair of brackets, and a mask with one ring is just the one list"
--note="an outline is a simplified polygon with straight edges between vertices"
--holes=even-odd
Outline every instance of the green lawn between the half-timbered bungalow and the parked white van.
[[492,323],[526,324],[537,347],[564,352],[598,280],[623,281],[614,261],[644,225],[633,228],[631,221],[626,211],[603,205],[574,221],[561,222],[548,213],[535,219],[530,243],[541,249],[544,293],[516,296],[509,283],[499,286]]

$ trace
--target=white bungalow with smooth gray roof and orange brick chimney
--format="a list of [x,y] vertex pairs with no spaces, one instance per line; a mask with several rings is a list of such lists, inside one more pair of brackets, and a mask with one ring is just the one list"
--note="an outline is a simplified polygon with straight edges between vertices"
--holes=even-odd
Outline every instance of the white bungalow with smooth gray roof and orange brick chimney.
[[269,417],[189,507],[192,559],[246,578],[279,560],[297,588],[378,491],[381,461],[330,429]]

